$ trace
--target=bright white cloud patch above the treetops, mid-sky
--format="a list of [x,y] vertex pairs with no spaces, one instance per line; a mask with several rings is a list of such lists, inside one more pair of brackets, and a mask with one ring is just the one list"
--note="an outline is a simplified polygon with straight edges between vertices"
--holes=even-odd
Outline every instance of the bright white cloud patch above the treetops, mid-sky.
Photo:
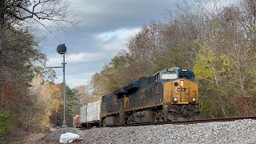
[[135,34],[138,34],[140,30],[141,28],[122,28],[96,34],[95,38],[102,43],[103,50],[117,52],[118,50],[126,49],[126,43],[128,43],[130,38],[133,38]]

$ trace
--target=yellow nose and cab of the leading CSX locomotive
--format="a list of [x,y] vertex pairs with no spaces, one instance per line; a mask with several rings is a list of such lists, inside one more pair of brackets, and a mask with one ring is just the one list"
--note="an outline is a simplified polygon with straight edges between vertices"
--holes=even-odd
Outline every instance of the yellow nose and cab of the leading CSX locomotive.
[[178,67],[158,73],[163,87],[163,112],[170,121],[194,119],[199,113],[198,84],[194,73]]

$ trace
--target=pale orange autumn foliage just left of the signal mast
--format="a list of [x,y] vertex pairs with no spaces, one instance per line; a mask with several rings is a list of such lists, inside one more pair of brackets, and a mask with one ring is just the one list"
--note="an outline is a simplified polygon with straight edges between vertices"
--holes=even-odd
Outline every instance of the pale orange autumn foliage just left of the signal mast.
[[49,126],[50,116],[57,114],[61,99],[61,88],[58,85],[45,83],[42,85],[42,77],[34,78],[30,87],[31,99],[33,105],[30,110],[30,125],[34,126]]

